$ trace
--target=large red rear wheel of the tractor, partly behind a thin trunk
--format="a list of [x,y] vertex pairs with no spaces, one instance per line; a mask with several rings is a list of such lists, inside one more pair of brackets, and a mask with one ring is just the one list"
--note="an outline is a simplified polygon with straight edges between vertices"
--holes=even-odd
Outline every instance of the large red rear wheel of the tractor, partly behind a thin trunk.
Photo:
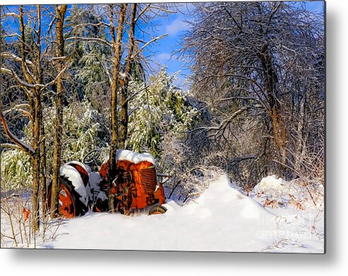
[[[48,207],[50,208],[50,199],[52,194],[52,183],[47,189]],[[71,181],[65,177],[60,178],[58,191],[58,214],[64,218],[74,218],[79,215],[85,215],[86,207],[79,199]]]

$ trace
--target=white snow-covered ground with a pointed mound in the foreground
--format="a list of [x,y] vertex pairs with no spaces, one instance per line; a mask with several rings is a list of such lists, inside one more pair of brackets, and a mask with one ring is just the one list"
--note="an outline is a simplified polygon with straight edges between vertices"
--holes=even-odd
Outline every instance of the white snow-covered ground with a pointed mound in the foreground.
[[184,206],[167,202],[168,211],[163,215],[90,212],[63,220],[55,238],[44,243],[37,240],[36,247],[323,253],[322,205],[302,202],[306,208],[301,210],[296,201],[284,196],[281,204],[277,201],[273,208],[264,207],[270,201],[262,194],[265,189],[289,192],[287,182],[275,177],[263,179],[250,196],[237,189],[222,175],[196,201]]

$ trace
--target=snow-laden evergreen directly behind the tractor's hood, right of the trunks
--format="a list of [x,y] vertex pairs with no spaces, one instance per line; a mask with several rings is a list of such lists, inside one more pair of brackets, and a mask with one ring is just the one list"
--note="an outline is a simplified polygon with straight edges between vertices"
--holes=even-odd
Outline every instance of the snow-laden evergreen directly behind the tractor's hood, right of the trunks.
[[164,69],[148,84],[131,82],[134,94],[129,103],[129,144],[133,151],[150,151],[159,157],[164,134],[172,132],[184,141],[198,110],[188,101],[188,92],[174,86],[177,73]]

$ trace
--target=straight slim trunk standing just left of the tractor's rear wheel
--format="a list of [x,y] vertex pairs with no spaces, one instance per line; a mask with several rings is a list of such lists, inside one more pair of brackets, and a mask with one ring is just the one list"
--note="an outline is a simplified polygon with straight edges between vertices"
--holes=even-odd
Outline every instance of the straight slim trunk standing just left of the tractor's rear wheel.
[[[56,41],[57,56],[64,56],[64,37],[63,25],[67,5],[56,5]],[[58,72],[63,70],[62,61],[57,63]],[[53,151],[53,172],[52,172],[52,196],[51,196],[51,217],[55,218],[58,211],[58,189],[59,189],[59,169],[61,167],[61,136],[63,132],[63,77],[59,76],[56,82],[56,131],[54,132],[54,151]]]

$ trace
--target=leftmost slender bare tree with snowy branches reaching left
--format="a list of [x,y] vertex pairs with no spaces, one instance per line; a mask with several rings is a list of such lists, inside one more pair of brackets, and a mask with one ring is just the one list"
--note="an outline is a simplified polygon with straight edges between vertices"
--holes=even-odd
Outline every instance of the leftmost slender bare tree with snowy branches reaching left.
[[[40,134],[42,127],[42,91],[44,85],[42,85],[42,69],[41,69],[41,16],[40,6],[37,6],[37,28],[33,29],[33,33],[36,37],[33,39],[34,46],[28,49],[28,44],[25,37],[25,25],[24,25],[24,14],[23,6],[19,7],[19,13],[16,15],[20,24],[20,54],[21,57],[16,57],[15,60],[21,65],[22,73],[25,80],[22,80],[13,70],[7,68],[1,68],[1,73],[11,75],[18,85],[25,91],[28,100],[30,111],[26,111],[29,117],[32,119],[32,145],[21,142],[15,134],[9,130],[6,123],[6,119],[1,112],[1,122],[4,125],[4,130],[8,138],[16,144],[19,149],[22,149],[30,155],[32,163],[32,213],[35,216],[33,220],[35,230],[39,229],[39,191],[40,191]],[[33,37],[34,37],[33,35]],[[36,58],[34,62],[28,61],[27,52],[30,51],[33,57]],[[11,53],[1,53],[2,56],[12,56]]]

